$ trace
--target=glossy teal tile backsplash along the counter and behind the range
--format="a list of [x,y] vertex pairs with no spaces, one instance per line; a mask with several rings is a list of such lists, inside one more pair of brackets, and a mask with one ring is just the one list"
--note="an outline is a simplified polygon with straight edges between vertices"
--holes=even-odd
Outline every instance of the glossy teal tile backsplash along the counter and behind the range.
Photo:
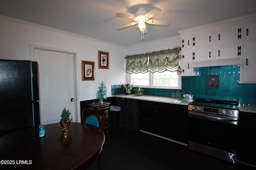
[[[182,77],[182,94],[195,98],[232,100],[241,104],[256,104],[256,84],[238,84],[239,65],[196,68],[198,76]],[[218,88],[208,88],[208,75],[219,75]],[[255,74],[255,73],[252,73]],[[145,95],[170,97],[175,89],[143,88]],[[112,95],[125,94],[121,84],[111,86]],[[132,92],[134,93],[134,92]]]

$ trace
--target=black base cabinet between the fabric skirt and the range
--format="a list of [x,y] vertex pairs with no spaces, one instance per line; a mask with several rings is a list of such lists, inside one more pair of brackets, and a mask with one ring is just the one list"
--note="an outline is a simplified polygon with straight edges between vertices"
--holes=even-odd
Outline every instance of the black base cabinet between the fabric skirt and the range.
[[188,106],[138,100],[140,130],[187,143]]

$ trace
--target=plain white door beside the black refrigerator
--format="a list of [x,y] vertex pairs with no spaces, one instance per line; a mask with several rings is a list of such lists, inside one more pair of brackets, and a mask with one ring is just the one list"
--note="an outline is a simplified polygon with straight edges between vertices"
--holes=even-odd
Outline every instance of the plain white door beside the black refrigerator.
[[34,50],[38,62],[41,124],[58,123],[64,107],[75,114],[74,54]]

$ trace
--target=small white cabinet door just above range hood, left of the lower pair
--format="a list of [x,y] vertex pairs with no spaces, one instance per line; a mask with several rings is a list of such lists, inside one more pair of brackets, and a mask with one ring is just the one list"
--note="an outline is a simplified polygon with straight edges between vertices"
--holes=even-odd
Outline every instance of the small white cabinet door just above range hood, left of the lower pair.
[[192,50],[192,62],[193,61],[207,61],[213,60],[214,56],[213,47],[204,47]]

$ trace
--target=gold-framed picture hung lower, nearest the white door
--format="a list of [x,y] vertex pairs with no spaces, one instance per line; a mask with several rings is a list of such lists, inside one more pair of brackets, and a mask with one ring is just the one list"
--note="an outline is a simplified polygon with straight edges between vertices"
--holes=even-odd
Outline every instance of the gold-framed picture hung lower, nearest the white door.
[[95,62],[82,61],[82,80],[95,80]]

